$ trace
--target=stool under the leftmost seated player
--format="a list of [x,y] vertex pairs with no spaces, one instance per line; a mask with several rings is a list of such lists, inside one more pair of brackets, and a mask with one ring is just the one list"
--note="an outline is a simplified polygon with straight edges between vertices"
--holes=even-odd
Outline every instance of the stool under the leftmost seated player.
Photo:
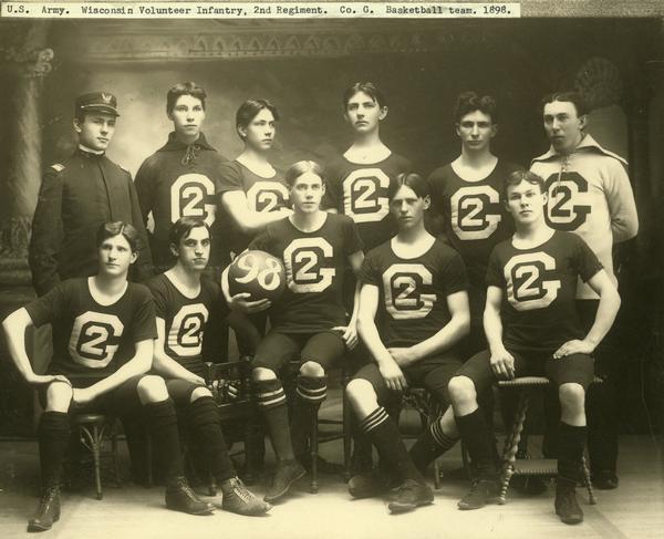
[[102,493],[102,446],[105,439],[111,439],[111,455],[113,458],[113,468],[115,471],[115,481],[120,485],[120,463],[117,455],[117,436],[115,433],[115,418],[103,414],[79,414],[72,419],[73,425],[79,431],[81,444],[90,449],[94,460],[94,483],[96,488],[96,499],[104,497]]

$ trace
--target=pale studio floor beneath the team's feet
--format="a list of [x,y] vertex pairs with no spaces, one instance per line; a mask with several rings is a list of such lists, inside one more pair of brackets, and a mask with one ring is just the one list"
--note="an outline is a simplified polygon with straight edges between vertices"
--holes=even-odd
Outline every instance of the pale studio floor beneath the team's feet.
[[[124,444],[123,444],[124,445]],[[536,450],[539,439],[532,438]],[[443,459],[452,477],[443,480],[435,502],[417,511],[391,516],[382,499],[352,500],[341,477],[323,475],[318,495],[301,479],[287,500],[266,517],[248,518],[221,510],[191,517],[164,507],[159,487],[145,489],[126,483],[108,485],[104,499],[94,499],[92,483],[63,496],[60,522],[46,532],[53,538],[169,539],[169,538],[662,538],[664,537],[663,439],[624,436],[621,439],[620,487],[598,490],[598,505],[585,504],[578,489],[585,521],[570,527],[553,512],[552,490],[537,497],[510,491],[505,506],[459,511],[457,500],[468,484],[454,478],[460,464],[458,448]],[[124,453],[124,452],[123,452]],[[341,443],[322,446],[323,456],[341,462]],[[268,456],[267,466],[270,467]],[[123,455],[126,468],[126,455]],[[34,442],[0,443],[0,538],[24,537],[25,522],[37,506],[38,456]],[[267,479],[255,487],[263,494]],[[216,501],[220,501],[217,499]]]

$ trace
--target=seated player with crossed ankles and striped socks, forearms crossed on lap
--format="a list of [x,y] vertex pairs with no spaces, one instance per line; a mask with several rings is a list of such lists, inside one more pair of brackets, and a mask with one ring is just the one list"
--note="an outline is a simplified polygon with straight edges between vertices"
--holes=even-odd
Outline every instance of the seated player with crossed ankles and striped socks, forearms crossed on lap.
[[468,332],[470,313],[460,256],[424,226],[428,184],[417,174],[396,179],[390,208],[398,232],[369,252],[360,273],[359,330],[374,363],[357,372],[346,392],[382,465],[382,470],[351,478],[349,490],[363,498],[395,485],[390,510],[403,512],[434,499],[413,458],[426,460],[440,433],[434,423],[416,442],[412,458],[383,406],[401,400],[408,385],[426,387],[443,410],[449,405],[447,384],[461,365],[456,345]]

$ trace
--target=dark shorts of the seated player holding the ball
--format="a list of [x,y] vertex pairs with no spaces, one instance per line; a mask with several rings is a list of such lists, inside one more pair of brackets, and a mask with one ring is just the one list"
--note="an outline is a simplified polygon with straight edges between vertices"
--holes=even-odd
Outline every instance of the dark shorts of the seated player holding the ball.
[[279,333],[270,331],[258,345],[252,369],[280,372],[290,361],[312,361],[328,371],[345,353],[345,342],[336,331]]

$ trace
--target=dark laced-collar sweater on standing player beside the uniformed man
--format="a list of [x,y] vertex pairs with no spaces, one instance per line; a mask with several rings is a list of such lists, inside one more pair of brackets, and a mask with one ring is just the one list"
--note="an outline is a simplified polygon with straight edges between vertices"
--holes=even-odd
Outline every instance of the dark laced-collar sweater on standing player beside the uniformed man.
[[168,142],[143,162],[136,174],[136,191],[144,222],[152,211],[155,221],[152,251],[159,268],[173,266],[168,234],[180,217],[199,217],[212,231],[210,265],[221,266],[228,248],[217,222],[219,174],[226,159],[212,148],[203,133],[186,145],[170,133]]

